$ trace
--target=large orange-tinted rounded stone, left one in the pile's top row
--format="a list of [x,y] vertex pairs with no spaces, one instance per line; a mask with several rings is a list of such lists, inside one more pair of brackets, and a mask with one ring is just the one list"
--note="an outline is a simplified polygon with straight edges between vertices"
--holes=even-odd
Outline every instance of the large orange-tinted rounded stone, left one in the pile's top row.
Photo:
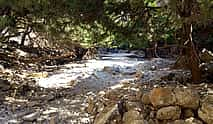
[[150,92],[150,101],[154,107],[174,105],[176,102],[172,88],[154,88]]

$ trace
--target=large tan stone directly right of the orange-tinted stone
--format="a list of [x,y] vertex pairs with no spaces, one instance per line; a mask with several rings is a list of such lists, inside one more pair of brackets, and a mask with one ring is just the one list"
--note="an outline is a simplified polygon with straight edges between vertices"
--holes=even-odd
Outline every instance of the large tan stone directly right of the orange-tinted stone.
[[195,90],[188,88],[175,88],[174,93],[176,105],[194,110],[198,108],[200,97]]

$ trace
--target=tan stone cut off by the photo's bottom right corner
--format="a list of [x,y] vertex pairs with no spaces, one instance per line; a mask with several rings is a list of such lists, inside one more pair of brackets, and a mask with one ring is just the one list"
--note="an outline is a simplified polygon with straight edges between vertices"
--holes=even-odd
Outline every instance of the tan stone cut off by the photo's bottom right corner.
[[213,103],[204,102],[198,110],[198,116],[207,124],[213,124]]

